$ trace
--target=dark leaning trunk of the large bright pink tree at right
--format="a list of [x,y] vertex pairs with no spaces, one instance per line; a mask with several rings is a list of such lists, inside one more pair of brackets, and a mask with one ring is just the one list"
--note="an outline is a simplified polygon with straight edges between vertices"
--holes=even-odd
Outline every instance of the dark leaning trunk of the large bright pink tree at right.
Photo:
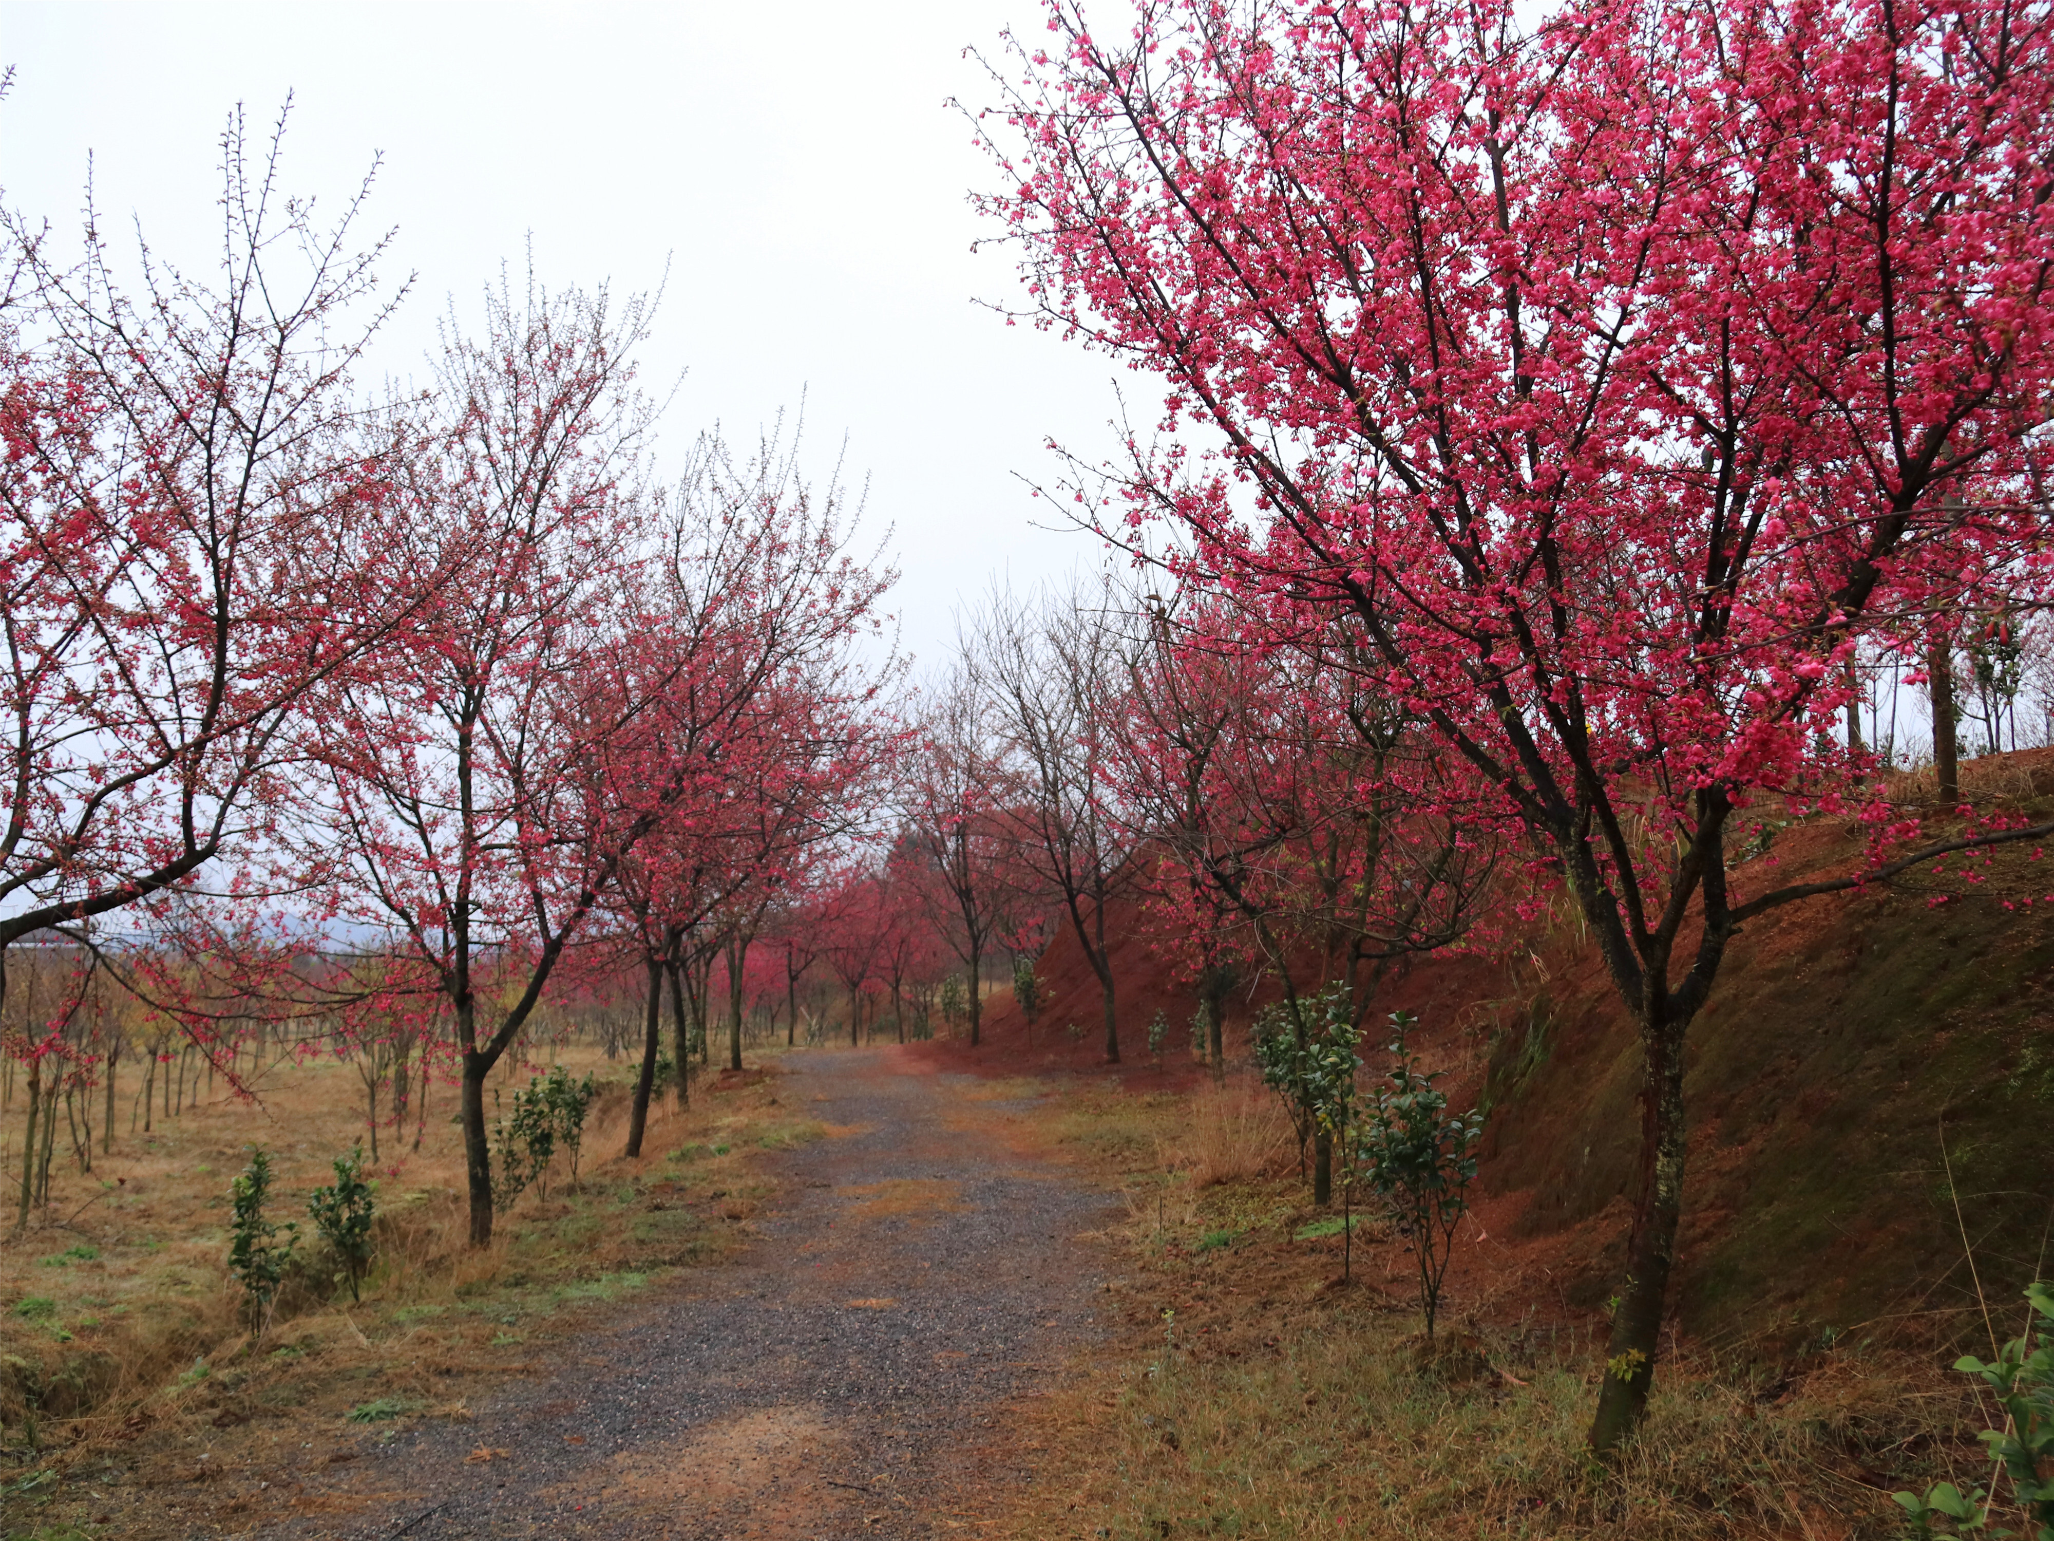
[[1627,1282],[1612,1315],[1598,1412],[1590,1449],[1608,1455],[1633,1432],[1647,1407],[1662,1342],[1662,1307],[1676,1262],[1682,1216],[1682,1038],[1688,1019],[1672,1015],[1666,994],[1649,988],[1641,1009],[1641,1173],[1627,1241]]

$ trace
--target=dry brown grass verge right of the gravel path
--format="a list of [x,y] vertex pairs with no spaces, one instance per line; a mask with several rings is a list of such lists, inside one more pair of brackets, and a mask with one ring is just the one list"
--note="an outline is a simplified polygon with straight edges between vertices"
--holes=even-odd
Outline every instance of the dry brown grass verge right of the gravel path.
[[1319,1216],[1288,1126],[1278,1159],[1259,1101],[1048,1110],[1126,1186],[1128,1223],[1107,1233],[1107,1313],[1126,1325],[1113,1352],[1023,1405],[1009,1444],[1041,1451],[1041,1471],[998,1535],[1884,1541],[1900,1529],[1894,1488],[1986,1465],[1962,1377],[1844,1342],[1787,1366],[1680,1346],[1639,1440],[1596,1469],[1584,1434],[1602,1323],[1458,1319],[1423,1362],[1407,1257],[1366,1227],[1339,1284],[1341,1239],[1298,1235]]

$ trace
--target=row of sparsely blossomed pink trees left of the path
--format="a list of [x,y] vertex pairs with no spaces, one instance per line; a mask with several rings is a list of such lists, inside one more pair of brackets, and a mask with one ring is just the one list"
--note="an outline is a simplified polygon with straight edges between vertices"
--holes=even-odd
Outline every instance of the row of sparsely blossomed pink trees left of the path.
[[[639,1142],[659,978],[869,801],[889,575],[778,438],[657,481],[641,300],[501,281],[366,399],[403,290],[277,146],[230,125],[207,279],[6,224],[0,1011],[58,939],[224,1068],[267,1013],[448,1044],[483,1245],[485,1079],[548,992],[647,970]],[[31,1110],[94,1073],[68,1015],[8,1038]]]

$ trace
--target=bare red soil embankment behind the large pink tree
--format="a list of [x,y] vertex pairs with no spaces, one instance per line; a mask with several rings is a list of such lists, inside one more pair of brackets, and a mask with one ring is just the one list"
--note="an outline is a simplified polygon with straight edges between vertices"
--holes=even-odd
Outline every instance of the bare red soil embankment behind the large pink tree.
[[[2054,750],[1966,766],[1972,787],[2054,814]],[[1984,805],[1984,797],[1978,797]],[[1945,828],[1945,826],[1941,826]],[[1744,892],[1851,871],[1859,836],[1805,820],[1742,865]],[[1029,1038],[1000,990],[984,1044],[922,1056],[984,1073],[1117,1077],[1136,1091],[1204,1077],[1195,997],[1130,908],[1109,931],[1121,1066],[1103,1062],[1099,982],[1076,939],[1037,966],[1048,1007]],[[1230,1056],[1276,997],[1243,994]],[[1493,957],[1415,962],[1374,1013],[1407,1009],[1430,1062],[1491,1110],[1479,1231],[1465,1268],[1504,1307],[1588,1311],[1616,1288],[1639,1149],[1639,1044],[1573,923],[1506,925]],[[1161,1062],[1146,1025],[1163,1011]],[[1070,1025],[1076,1033],[1070,1033]],[[1372,1031],[1370,1070],[1382,1062]],[[1713,1342],[1814,1340],[2009,1305],[2054,1268],[2054,849],[2021,844],[1906,873],[1890,888],[1775,910],[1729,945],[1690,1029],[1690,1169],[1676,1305]],[[1964,1245],[1966,1243],[1966,1245]]]

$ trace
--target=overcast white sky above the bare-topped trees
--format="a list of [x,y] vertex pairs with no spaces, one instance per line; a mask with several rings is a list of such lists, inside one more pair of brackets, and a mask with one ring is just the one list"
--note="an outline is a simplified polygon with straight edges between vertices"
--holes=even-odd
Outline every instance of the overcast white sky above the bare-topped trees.
[[[333,205],[382,152],[372,224],[417,275],[378,364],[413,372],[448,296],[474,314],[501,261],[553,286],[670,284],[645,382],[688,370],[670,458],[721,419],[748,440],[807,394],[822,471],[842,438],[869,526],[896,526],[893,608],[922,664],[992,577],[1095,565],[1041,532],[1015,473],[1048,438],[1111,444],[1113,364],[974,298],[1015,300],[1013,257],[965,203],[992,171],[943,103],[990,97],[965,45],[1039,31],[1035,0],[885,4],[0,4],[0,183],[60,232],[88,154],[107,228],[214,247],[216,140],[294,92],[286,181]],[[119,218],[109,218],[119,216]]]

